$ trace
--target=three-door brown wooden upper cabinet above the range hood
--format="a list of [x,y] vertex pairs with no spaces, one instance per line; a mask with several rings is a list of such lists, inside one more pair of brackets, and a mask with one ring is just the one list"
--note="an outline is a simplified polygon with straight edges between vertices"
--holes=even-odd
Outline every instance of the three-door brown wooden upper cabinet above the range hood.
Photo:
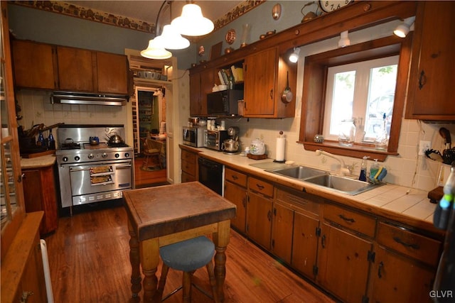
[[125,55],[14,40],[13,59],[16,87],[128,94]]

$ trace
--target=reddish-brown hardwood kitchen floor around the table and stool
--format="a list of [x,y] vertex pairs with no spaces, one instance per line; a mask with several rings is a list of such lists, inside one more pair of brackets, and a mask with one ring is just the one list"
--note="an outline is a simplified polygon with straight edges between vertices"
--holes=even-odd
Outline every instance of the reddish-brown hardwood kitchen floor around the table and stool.
[[[56,303],[135,302],[130,299],[129,233],[123,206],[100,206],[62,217],[57,231],[45,241]],[[226,255],[225,302],[334,302],[235,231]],[[161,264],[158,277],[159,272]],[[196,284],[210,292],[205,268],[194,276]],[[164,294],[179,285],[181,272],[170,270]],[[211,302],[194,287],[192,296],[193,302]],[[181,302],[181,291],[166,302]]]

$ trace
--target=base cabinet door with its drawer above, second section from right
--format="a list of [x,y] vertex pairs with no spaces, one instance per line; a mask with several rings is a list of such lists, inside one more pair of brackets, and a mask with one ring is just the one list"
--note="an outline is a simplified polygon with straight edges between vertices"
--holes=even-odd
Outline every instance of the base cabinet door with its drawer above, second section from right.
[[363,302],[367,294],[375,235],[373,216],[324,204],[318,275],[321,287],[343,302]]

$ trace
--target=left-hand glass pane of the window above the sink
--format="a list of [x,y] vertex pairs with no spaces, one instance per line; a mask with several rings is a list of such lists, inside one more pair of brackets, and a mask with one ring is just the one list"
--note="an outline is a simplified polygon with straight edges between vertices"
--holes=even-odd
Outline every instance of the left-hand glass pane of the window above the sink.
[[338,72],[333,81],[330,133],[338,136],[341,121],[353,118],[355,70]]

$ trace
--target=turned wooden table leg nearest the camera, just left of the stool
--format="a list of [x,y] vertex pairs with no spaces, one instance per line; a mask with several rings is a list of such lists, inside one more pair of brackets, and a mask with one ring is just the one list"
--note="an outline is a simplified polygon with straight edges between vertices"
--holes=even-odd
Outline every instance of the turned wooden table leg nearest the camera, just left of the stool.
[[152,238],[139,243],[142,273],[144,274],[144,302],[161,302],[157,291],[156,269],[159,263],[159,239]]

